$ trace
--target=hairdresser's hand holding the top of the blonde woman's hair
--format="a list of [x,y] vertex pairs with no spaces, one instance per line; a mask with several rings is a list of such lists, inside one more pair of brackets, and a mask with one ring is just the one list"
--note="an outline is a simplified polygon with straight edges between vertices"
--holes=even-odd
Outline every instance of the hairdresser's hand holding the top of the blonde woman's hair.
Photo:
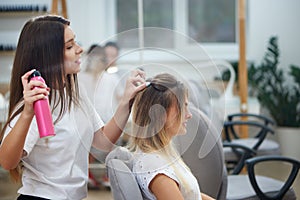
[[145,72],[142,70],[134,70],[126,81],[126,87],[122,101],[130,102],[134,99],[137,92],[146,87]]

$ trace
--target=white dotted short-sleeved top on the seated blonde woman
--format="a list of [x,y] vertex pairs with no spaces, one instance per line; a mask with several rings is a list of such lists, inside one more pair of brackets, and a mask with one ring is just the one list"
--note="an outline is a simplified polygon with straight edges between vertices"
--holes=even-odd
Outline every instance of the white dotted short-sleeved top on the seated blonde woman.
[[164,174],[178,183],[185,200],[201,200],[197,179],[182,162],[178,159],[168,159],[159,153],[134,154],[132,170],[144,198],[156,199],[149,190],[149,184],[156,175]]

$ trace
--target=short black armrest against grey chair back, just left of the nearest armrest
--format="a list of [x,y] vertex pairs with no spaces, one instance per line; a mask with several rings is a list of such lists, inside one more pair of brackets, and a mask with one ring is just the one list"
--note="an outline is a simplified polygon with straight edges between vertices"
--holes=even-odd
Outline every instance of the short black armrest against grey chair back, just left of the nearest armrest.
[[245,161],[248,158],[256,155],[256,152],[253,149],[240,144],[224,142],[223,147],[230,147],[232,151],[239,157],[239,161],[235,165],[231,174],[239,174],[245,165]]

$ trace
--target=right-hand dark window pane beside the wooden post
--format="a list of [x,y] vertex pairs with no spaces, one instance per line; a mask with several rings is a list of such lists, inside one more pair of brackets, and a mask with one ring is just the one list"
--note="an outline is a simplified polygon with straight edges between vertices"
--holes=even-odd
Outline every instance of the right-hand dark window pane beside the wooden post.
[[235,0],[188,0],[188,35],[197,42],[235,42]]

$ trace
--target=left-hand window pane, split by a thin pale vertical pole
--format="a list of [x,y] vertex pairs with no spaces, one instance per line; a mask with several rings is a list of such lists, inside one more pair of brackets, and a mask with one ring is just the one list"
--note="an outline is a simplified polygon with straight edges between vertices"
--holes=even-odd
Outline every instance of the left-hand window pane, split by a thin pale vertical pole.
[[[117,33],[138,28],[138,2],[137,0],[117,0]],[[144,0],[143,1],[144,27],[160,27],[174,29],[173,0]],[[126,37],[122,37],[126,35]],[[139,46],[138,30],[119,35],[118,43],[122,48],[134,48]],[[174,41],[169,35],[159,35],[154,30],[144,32],[145,46],[159,45],[172,48]]]

